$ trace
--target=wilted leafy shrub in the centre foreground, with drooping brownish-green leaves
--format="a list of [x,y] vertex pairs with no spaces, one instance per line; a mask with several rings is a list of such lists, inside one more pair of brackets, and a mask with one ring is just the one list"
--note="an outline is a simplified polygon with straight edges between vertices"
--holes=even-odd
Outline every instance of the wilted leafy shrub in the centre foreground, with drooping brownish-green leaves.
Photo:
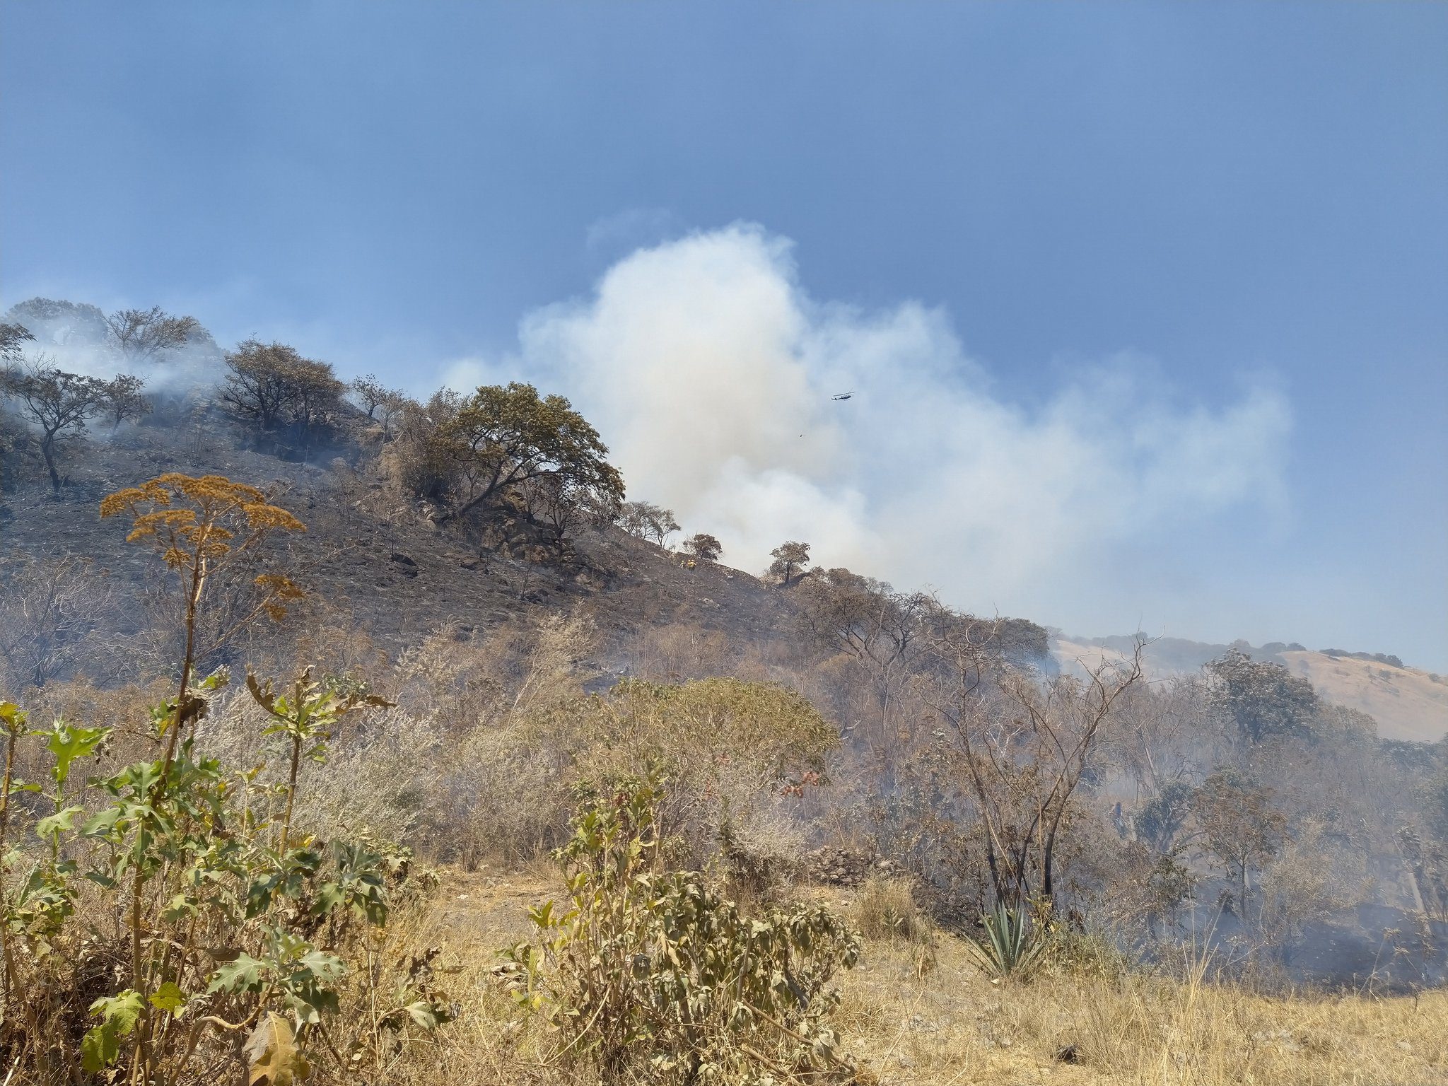
[[530,911],[537,940],[504,953],[507,989],[559,1057],[608,1082],[851,1080],[830,980],[859,935],[824,908],[746,917],[701,873],[666,870],[663,798],[652,778],[585,799],[556,853],[569,901]]

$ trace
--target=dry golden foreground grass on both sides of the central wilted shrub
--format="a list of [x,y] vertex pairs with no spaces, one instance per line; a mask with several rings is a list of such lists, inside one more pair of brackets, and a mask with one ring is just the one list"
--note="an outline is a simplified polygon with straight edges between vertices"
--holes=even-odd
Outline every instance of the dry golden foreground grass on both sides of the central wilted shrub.
[[[527,905],[557,892],[543,864],[504,876],[449,875],[407,921],[414,946],[445,947],[459,967],[447,988],[462,1016],[387,1069],[381,1080],[417,1086],[573,1083],[553,1066],[549,1038],[523,1021],[488,970],[495,947],[526,935]],[[866,891],[866,911],[892,888]],[[849,912],[859,895],[815,893]],[[1448,992],[1419,998],[1266,996],[1203,979],[1138,973],[1079,979],[1047,973],[993,985],[960,943],[869,940],[844,982],[841,1040],[862,1080],[1109,1083],[1111,1086],[1418,1086],[1448,1083]]]

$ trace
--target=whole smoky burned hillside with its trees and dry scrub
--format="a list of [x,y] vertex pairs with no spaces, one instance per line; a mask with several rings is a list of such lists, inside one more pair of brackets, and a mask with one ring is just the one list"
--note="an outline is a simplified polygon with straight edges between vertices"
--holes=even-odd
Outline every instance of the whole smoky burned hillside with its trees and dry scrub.
[[[1289,666],[1297,646],[1163,644],[1186,665],[1151,672],[1150,643],[1102,639],[1061,666],[1043,626],[815,565],[808,540],[731,569],[626,491],[562,394],[420,401],[281,343],[98,316],[6,317],[0,665],[36,718],[159,696],[175,724],[104,725],[110,767],[184,717],[227,763],[292,736],[268,786],[310,789],[308,833],[469,876],[566,850],[608,786],[744,901],[822,879],[953,937],[1019,925],[1058,969],[1166,969],[1205,938],[1268,988],[1442,983],[1448,743],[1384,738]],[[230,533],[214,569],[187,534],[206,523]],[[258,733],[284,689],[340,721],[326,765],[300,767],[297,721]]]

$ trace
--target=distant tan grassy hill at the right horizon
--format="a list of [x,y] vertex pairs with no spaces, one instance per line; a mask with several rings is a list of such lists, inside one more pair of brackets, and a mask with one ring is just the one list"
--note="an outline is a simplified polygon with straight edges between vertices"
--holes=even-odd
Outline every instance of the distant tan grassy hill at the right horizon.
[[[1063,668],[1093,668],[1102,660],[1125,659],[1132,640],[1129,636],[1060,636],[1053,640],[1051,650]],[[1147,673],[1156,678],[1183,675],[1218,659],[1229,647],[1234,646],[1163,637],[1147,646],[1144,663]],[[1328,701],[1368,714],[1383,738],[1436,743],[1448,736],[1448,678],[1442,675],[1389,663],[1393,657],[1378,659],[1368,653],[1312,652],[1280,641],[1260,647],[1237,641],[1235,647],[1255,659],[1286,665]]]

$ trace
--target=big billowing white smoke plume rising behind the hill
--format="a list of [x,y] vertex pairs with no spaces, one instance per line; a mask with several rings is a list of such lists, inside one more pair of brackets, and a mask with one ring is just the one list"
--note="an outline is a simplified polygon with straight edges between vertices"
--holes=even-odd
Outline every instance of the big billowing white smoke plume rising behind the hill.
[[517,358],[446,376],[565,392],[630,495],[717,534],[730,565],[801,539],[825,565],[1028,607],[1102,546],[1280,498],[1279,394],[1180,407],[1138,369],[1083,366],[1012,404],[941,311],[815,301],[786,239],[736,224],[639,249],[529,316]]

